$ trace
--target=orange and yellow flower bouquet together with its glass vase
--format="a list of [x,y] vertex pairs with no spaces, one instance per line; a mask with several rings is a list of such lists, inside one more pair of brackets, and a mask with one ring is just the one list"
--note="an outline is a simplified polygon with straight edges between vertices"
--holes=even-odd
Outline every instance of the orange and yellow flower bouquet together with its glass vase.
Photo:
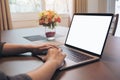
[[61,22],[60,16],[51,10],[42,11],[39,14],[39,25],[45,27],[45,35],[48,40],[55,39],[55,27]]

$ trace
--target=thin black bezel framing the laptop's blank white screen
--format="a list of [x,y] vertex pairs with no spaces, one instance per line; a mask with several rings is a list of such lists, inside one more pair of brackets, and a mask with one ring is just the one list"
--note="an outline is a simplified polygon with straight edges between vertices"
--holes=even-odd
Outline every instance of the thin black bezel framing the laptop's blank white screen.
[[[112,17],[112,18],[111,18],[111,21],[110,21],[110,24],[109,24],[109,28],[108,28],[108,30],[107,30],[107,34],[106,34],[106,38],[105,38],[105,41],[104,41],[104,44],[103,44],[103,48],[102,48],[102,51],[101,51],[101,55],[95,54],[95,53],[93,53],[93,52],[90,52],[90,51],[87,51],[87,50],[84,50],[84,49],[77,48],[77,47],[75,47],[75,46],[71,46],[71,45],[69,45],[69,44],[66,43],[67,38],[68,38],[68,35],[69,35],[69,32],[70,32],[70,29],[71,29],[71,24],[72,24],[72,21],[73,21],[73,18],[74,18],[75,15],[88,15],[88,16],[89,16],[89,15],[92,15],[92,16],[98,15],[98,16],[111,16],[111,17]],[[68,33],[67,33],[67,36],[66,36],[64,45],[67,46],[67,47],[70,47],[70,48],[73,48],[73,49],[76,49],[76,50],[79,50],[79,51],[82,51],[82,52],[85,52],[85,53],[88,53],[88,54],[91,54],[91,55],[95,55],[95,56],[101,58],[101,57],[102,57],[102,54],[103,54],[103,51],[104,51],[104,48],[105,48],[105,44],[106,44],[106,41],[107,41],[107,37],[108,37],[109,31],[110,31],[110,27],[111,27],[111,24],[112,24],[113,15],[114,15],[114,14],[112,14],[112,13],[74,13],[74,14],[73,14],[73,17],[72,17],[72,20],[71,20],[71,23],[70,23],[70,26],[69,26],[69,30],[68,30]]]

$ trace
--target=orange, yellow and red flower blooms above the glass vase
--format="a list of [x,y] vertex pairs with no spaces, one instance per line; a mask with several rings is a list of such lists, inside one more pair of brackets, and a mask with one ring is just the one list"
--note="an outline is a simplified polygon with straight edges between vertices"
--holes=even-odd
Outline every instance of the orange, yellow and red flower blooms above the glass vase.
[[39,14],[39,25],[43,25],[49,28],[55,28],[57,23],[61,22],[60,16],[51,10],[42,11]]

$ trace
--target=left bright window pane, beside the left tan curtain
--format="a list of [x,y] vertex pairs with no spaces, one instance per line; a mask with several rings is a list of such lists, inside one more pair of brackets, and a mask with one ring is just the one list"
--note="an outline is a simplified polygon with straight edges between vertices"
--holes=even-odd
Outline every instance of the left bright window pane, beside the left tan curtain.
[[41,11],[41,0],[9,0],[12,13]]

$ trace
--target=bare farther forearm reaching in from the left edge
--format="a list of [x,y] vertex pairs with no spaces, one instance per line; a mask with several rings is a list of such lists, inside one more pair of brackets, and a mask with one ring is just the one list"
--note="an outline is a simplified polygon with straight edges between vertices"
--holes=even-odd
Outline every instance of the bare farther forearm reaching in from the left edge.
[[30,52],[32,46],[29,44],[4,44],[2,55],[16,55],[20,53]]

